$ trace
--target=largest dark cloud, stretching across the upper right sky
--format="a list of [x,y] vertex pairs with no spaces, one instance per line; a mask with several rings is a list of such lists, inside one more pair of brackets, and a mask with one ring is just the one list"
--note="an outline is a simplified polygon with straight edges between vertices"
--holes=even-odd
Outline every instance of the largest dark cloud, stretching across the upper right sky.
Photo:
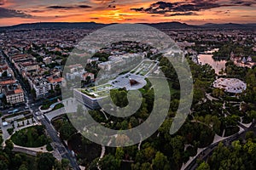
[[[254,0],[255,1],[255,0]],[[254,2],[256,3],[256,2]],[[163,1],[152,3],[148,8],[131,8],[137,12],[148,14],[168,14],[177,13],[176,15],[186,15],[189,12],[207,10],[211,8],[227,7],[227,6],[248,6],[253,1],[236,0],[231,3],[218,3],[218,0],[187,0],[186,2],[166,3]]]

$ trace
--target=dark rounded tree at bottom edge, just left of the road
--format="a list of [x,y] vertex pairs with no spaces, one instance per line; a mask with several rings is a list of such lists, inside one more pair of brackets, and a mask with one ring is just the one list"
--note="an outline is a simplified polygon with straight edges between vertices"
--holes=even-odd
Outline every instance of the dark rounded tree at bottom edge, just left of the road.
[[52,170],[55,165],[55,157],[51,153],[38,153],[38,170]]

